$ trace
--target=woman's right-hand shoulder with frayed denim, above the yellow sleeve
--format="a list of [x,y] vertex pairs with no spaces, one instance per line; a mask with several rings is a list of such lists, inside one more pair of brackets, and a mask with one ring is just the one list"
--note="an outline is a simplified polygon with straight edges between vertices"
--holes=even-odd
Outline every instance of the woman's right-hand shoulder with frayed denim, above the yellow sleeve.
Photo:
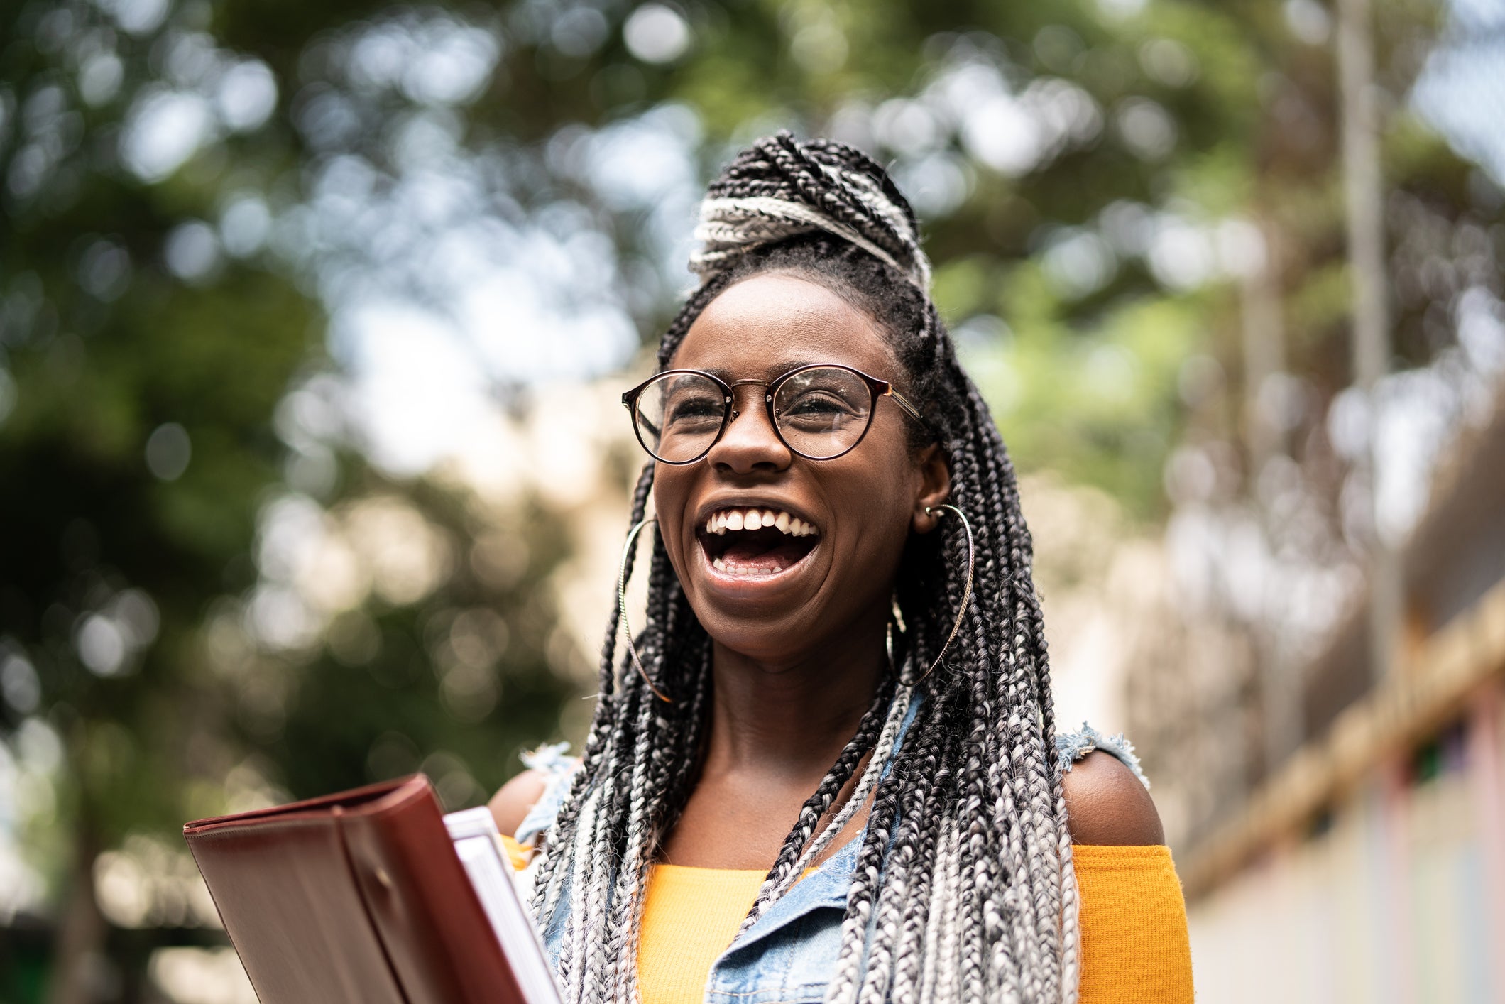
[[1106,736],[1087,723],[1057,736],[1061,787],[1066,793],[1072,841],[1090,846],[1165,843],[1160,814],[1150,798],[1150,781],[1139,769],[1133,747]]

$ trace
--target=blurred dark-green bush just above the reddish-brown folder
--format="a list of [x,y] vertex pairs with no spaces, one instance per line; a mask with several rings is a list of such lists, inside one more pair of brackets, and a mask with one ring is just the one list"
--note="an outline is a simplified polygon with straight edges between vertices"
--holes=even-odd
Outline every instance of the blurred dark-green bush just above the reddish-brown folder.
[[[417,602],[372,595],[331,625],[324,644],[296,656],[301,665],[260,656],[235,670],[287,680],[271,709],[241,707],[236,732],[298,798],[423,769],[450,808],[483,802],[516,774],[519,753],[554,738],[573,689],[557,673],[557,617],[545,599],[549,573],[569,554],[564,527],[530,504],[515,515],[527,537],[471,543],[489,527],[464,498],[372,471],[352,480],[361,483],[349,492],[355,498],[400,498],[421,512],[450,569]],[[488,548],[497,546],[509,563],[488,569]]]

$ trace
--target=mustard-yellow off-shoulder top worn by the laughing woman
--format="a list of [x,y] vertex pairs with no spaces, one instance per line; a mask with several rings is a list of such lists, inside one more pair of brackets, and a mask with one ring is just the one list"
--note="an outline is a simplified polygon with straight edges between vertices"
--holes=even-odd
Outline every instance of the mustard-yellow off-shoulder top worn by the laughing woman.
[[[513,861],[524,850],[506,837]],[[1073,846],[1081,893],[1081,1004],[1189,1004],[1192,948],[1171,849]],[[706,980],[742,926],[763,872],[653,867],[643,908],[638,986],[646,1004],[701,1004]]]

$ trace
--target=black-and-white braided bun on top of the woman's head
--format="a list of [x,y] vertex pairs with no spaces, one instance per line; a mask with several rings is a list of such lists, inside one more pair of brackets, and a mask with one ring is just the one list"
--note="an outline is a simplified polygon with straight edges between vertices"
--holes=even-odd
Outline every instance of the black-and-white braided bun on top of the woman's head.
[[914,209],[873,158],[832,140],[769,135],[742,151],[700,203],[689,269],[701,281],[756,247],[823,230],[930,286]]

